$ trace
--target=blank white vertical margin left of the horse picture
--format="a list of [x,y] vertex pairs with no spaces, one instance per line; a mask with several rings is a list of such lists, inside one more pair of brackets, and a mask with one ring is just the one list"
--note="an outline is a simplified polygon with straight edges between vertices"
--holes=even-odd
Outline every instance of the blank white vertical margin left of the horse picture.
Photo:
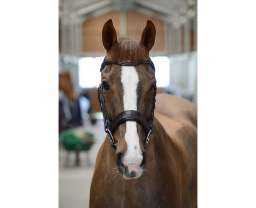
[[0,8],[0,207],[58,207],[59,2]]

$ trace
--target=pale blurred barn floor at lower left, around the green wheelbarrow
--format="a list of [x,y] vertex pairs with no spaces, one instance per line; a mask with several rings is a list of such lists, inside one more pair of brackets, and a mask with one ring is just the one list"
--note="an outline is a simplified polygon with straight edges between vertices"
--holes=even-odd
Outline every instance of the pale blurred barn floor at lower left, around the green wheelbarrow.
[[94,166],[100,146],[106,137],[104,132],[103,120],[97,120],[96,125],[91,125],[89,120],[85,120],[85,130],[94,133],[95,144],[89,151],[90,163],[88,164],[88,155],[85,152],[80,154],[80,166],[76,167],[75,154],[68,155],[64,149],[59,150],[59,207],[60,208],[86,208],[89,207],[89,195]]

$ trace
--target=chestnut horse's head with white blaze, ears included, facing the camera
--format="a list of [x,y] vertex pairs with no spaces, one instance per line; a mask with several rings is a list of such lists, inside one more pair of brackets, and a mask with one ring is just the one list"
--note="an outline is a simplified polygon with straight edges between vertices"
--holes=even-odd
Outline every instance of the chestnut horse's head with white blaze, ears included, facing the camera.
[[[118,123],[111,132],[115,161],[124,179],[136,179],[146,166],[145,140],[151,133],[146,125],[154,117],[156,79],[149,51],[155,43],[155,26],[148,20],[139,42],[124,38],[118,41],[112,20],[108,20],[103,26],[102,42],[107,51],[101,69],[103,110],[106,123]],[[132,113],[135,119],[127,119]],[[137,117],[141,120],[136,122]]]

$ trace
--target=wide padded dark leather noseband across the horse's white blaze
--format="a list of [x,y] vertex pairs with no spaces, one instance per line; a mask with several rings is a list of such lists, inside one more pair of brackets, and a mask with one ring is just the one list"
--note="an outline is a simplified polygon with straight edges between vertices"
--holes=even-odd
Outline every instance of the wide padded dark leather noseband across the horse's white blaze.
[[148,132],[149,132],[148,126],[149,125],[148,125],[146,118],[138,111],[132,111],[132,110],[123,111],[123,112],[119,113],[117,115],[117,117],[115,117],[114,120],[111,121],[111,123],[109,125],[109,130],[111,132],[114,132],[115,129],[117,129],[117,127],[120,124],[122,124],[126,121],[136,121],[137,123],[141,124],[146,135],[148,134]]

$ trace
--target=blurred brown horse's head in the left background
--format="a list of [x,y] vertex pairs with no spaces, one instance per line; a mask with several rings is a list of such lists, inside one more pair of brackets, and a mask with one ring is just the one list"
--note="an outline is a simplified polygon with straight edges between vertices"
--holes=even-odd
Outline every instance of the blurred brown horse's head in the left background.
[[63,71],[59,74],[59,90],[63,91],[70,100],[77,100],[77,96],[75,95],[72,85],[71,76],[68,71]]

